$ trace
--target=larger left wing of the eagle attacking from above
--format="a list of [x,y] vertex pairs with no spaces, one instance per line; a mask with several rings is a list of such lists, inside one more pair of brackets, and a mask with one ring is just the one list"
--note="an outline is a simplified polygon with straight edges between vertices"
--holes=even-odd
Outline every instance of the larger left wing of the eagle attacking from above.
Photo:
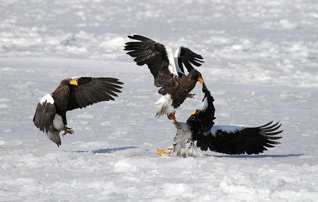
[[178,77],[172,49],[144,36],[133,35],[128,38],[140,42],[127,42],[124,50],[129,51],[128,55],[135,57],[137,65],[148,66],[154,76],[155,86],[162,87],[158,93],[165,95],[167,92],[164,87],[171,86],[173,78]]

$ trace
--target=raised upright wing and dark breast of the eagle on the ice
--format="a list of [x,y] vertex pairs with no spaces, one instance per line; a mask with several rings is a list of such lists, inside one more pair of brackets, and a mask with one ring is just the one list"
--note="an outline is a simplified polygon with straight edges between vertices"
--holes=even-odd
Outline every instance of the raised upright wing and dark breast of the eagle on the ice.
[[204,93],[202,101],[205,100],[202,110],[197,109],[187,120],[187,124],[191,126],[194,139],[197,139],[197,136],[210,133],[211,127],[214,125],[214,99],[205,83],[202,85],[202,92]]

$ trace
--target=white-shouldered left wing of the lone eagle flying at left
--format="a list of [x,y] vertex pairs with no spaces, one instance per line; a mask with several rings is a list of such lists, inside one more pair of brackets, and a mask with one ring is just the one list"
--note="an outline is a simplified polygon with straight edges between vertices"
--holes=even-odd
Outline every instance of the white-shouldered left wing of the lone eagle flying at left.
[[34,125],[43,133],[48,133],[53,126],[56,114],[52,95],[46,94],[38,103],[33,117]]

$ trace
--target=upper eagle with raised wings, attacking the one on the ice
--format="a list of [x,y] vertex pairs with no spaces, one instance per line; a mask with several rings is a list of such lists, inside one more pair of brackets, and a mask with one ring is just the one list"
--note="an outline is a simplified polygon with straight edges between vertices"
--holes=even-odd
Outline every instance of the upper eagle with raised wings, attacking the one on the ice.
[[[186,98],[193,98],[195,94],[189,93],[196,86],[197,81],[203,83],[201,73],[190,64],[201,66],[199,62],[203,62],[202,56],[183,46],[173,54],[169,47],[144,36],[128,37],[140,42],[127,42],[124,50],[128,50],[127,54],[135,57],[137,65],[146,64],[154,76],[155,86],[161,87],[158,93],[163,96],[156,102],[160,103],[156,116],[167,114],[171,119],[175,109],[180,107]],[[188,75],[184,74],[183,64],[189,72]]]

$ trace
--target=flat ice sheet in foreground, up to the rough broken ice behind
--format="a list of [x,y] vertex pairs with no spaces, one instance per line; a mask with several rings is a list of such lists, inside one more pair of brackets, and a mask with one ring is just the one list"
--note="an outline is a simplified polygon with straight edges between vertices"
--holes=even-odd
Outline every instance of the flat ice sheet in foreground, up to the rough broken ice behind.
[[[133,62],[1,58],[0,199],[110,201],[303,201],[318,198],[317,88],[233,84],[202,67],[215,98],[216,124],[260,126],[281,121],[280,145],[260,155],[204,158],[156,155],[176,133],[155,118],[159,94],[146,67]],[[233,72],[235,74],[235,72]],[[60,148],[32,123],[38,101],[75,75],[123,81],[115,101],[67,112],[73,135]],[[187,99],[176,111],[185,122],[202,108]],[[308,200],[310,201],[310,200]]]

